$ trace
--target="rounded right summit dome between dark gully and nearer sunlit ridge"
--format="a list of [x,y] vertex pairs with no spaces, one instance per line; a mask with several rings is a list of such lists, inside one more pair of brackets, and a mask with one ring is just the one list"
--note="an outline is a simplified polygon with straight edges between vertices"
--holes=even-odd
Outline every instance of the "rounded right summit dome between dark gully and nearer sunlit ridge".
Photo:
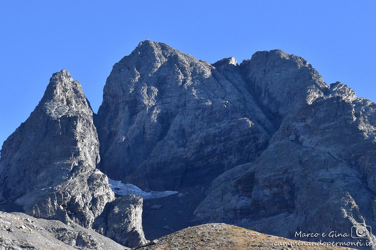
[[279,49],[258,51],[240,66],[253,96],[275,118],[312,103],[328,90],[311,64]]

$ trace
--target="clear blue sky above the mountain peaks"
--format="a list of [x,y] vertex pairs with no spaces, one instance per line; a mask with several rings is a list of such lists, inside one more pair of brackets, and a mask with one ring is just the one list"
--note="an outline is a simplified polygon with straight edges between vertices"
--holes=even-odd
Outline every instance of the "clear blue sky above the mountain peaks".
[[305,58],[376,101],[376,1],[17,1],[0,4],[0,145],[67,69],[94,112],[114,63],[150,39],[214,63],[259,50]]

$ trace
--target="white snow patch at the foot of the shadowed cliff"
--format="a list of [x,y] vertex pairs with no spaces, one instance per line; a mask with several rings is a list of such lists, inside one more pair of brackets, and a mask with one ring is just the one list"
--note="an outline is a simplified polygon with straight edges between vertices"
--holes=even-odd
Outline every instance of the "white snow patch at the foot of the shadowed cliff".
[[173,195],[175,193],[179,193],[177,191],[145,192],[133,184],[123,184],[121,183],[121,181],[111,180],[110,178],[108,178],[108,184],[110,185],[112,191],[114,191],[114,193],[116,193],[117,195],[139,195],[144,200],[162,198],[165,196]]

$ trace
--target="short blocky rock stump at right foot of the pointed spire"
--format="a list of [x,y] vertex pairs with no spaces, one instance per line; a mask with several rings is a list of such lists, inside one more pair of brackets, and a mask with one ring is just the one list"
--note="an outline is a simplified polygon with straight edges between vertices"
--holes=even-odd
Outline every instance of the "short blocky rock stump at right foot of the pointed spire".
[[109,203],[97,217],[94,228],[100,234],[130,248],[145,244],[142,229],[143,199],[138,195],[124,195]]

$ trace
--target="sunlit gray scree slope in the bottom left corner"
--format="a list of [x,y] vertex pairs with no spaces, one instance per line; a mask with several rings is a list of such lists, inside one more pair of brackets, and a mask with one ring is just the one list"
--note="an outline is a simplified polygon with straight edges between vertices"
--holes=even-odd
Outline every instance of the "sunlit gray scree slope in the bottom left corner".
[[1,250],[129,249],[94,230],[58,220],[35,219],[23,213],[0,212]]

